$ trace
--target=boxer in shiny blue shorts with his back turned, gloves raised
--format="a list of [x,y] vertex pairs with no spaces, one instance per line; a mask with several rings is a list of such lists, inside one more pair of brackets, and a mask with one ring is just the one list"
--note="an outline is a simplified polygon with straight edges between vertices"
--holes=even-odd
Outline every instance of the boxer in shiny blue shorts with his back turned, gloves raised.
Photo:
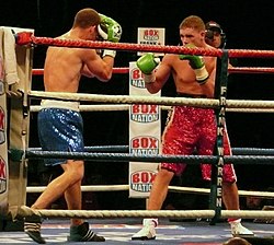
[[[111,18],[87,8],[80,10],[69,32],[59,36],[62,39],[118,42],[121,25]],[[98,54],[91,48],[49,47],[44,66],[44,86],[46,92],[77,93],[81,75],[110,81],[115,58],[115,50],[102,50]],[[45,100],[38,113],[38,136],[43,150],[62,152],[83,151],[83,122],[79,114],[79,103]],[[81,210],[81,182],[84,175],[82,160],[53,159],[47,165],[60,165],[64,173],[53,179],[32,209],[46,209],[56,199],[64,196],[69,210]],[[24,222],[25,233],[36,243],[46,241],[41,235],[39,217],[27,217]],[[89,229],[82,219],[71,219],[71,242],[104,242]]]

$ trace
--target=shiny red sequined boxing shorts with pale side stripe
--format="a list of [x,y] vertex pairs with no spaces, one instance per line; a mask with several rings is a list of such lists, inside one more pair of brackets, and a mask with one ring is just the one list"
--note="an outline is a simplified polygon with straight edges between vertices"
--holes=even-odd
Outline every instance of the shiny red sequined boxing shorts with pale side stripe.
[[[196,150],[198,155],[213,155],[217,137],[217,125],[214,109],[190,106],[175,106],[170,112],[162,136],[162,153],[171,155],[192,155]],[[224,130],[224,154],[231,155],[227,130]],[[161,168],[181,175],[185,163],[161,163]],[[201,164],[202,176],[210,180],[212,164]],[[232,164],[222,168],[224,182],[237,180]]]

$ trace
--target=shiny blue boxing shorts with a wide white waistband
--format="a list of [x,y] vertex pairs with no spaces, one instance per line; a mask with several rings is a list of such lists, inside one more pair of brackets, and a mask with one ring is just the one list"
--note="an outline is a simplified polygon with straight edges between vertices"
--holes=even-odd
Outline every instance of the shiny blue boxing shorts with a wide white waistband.
[[[46,100],[37,118],[43,151],[83,152],[83,120],[79,103]],[[66,163],[67,159],[45,159],[45,165]]]

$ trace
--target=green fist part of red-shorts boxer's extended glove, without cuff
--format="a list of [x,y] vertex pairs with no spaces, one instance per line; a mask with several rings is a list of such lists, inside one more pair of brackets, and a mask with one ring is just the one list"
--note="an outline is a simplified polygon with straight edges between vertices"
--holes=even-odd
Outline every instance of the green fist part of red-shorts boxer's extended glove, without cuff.
[[152,52],[142,55],[136,62],[137,67],[144,74],[151,74],[156,67],[159,65],[160,59],[156,58]]

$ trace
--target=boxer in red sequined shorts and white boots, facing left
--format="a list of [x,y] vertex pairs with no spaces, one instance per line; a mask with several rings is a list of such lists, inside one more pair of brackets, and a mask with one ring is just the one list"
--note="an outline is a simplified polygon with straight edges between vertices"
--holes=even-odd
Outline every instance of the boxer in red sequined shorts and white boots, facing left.
[[[214,49],[205,42],[205,24],[199,16],[190,15],[179,26],[183,46]],[[172,75],[179,96],[213,98],[215,91],[216,57],[168,54],[159,62],[153,54],[145,54],[137,60],[144,73],[147,90],[153,94],[162,89]],[[163,154],[213,155],[217,124],[213,109],[192,106],[174,106],[162,136]],[[225,154],[231,154],[225,133]],[[148,210],[160,210],[168,194],[172,177],[182,174],[185,164],[162,163],[152,184]],[[203,178],[210,179],[210,164],[202,164]],[[224,167],[222,200],[228,210],[239,210],[239,195],[236,174],[231,164]],[[241,225],[241,220],[229,220],[231,234],[253,235]],[[156,238],[158,219],[144,219],[144,228],[132,240]]]

